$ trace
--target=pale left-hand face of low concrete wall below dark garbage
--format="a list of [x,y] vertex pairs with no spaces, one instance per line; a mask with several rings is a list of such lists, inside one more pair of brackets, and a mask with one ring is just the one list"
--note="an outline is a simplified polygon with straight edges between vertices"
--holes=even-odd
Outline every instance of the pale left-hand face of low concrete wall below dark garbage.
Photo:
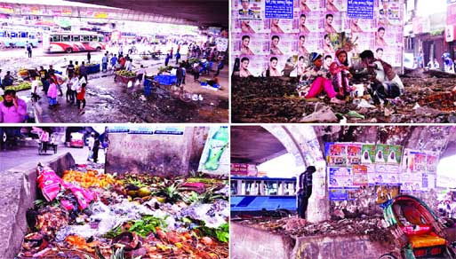
[[231,259],[287,259],[292,255],[293,239],[230,223]]

